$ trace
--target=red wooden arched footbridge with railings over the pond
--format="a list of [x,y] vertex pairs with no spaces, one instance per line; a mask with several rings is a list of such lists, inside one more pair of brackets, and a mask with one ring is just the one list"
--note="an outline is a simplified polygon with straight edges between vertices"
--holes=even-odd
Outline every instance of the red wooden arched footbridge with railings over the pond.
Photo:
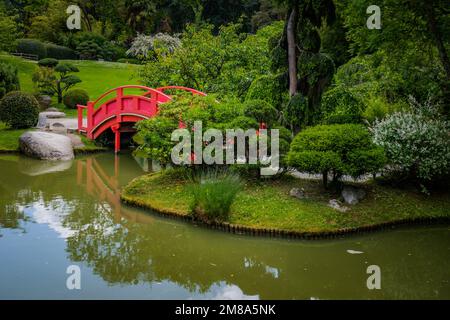
[[[132,89],[133,93],[125,93]],[[136,93],[139,91],[140,93]],[[134,131],[130,124],[158,114],[159,105],[172,100],[167,92],[186,91],[193,95],[206,96],[203,92],[180,86],[157,89],[138,85],[111,89],[87,106],[78,105],[78,132],[95,140],[107,130],[115,134],[115,151],[120,151],[120,134]],[[111,97],[112,96],[112,97]],[[84,113],[86,111],[86,120]]]

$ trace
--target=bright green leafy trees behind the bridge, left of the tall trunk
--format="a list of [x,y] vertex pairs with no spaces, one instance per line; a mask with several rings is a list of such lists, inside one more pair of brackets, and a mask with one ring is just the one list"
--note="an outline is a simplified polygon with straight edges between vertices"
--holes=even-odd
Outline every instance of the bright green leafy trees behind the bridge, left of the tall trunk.
[[143,69],[146,85],[178,84],[208,93],[244,98],[253,80],[269,72],[268,39],[281,33],[281,24],[265,27],[255,35],[239,32],[239,25],[190,26],[181,46],[159,55]]

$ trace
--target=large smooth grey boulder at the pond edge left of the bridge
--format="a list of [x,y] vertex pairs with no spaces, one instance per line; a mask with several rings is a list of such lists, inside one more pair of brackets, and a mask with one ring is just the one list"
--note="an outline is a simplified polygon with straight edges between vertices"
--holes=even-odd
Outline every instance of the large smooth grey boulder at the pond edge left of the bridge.
[[41,160],[71,160],[72,141],[63,135],[42,131],[28,131],[19,138],[19,147],[27,156]]

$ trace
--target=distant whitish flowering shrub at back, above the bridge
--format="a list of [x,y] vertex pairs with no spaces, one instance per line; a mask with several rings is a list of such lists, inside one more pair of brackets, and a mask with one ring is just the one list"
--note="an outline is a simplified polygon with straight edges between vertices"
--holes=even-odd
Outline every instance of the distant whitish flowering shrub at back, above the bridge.
[[180,38],[166,33],[158,33],[153,36],[138,34],[127,51],[127,55],[140,60],[149,60],[171,54],[180,45]]

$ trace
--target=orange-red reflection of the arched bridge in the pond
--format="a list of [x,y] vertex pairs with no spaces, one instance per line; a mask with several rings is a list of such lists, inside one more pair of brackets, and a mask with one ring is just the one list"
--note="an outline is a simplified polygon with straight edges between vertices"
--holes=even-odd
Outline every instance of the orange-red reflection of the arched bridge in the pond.
[[109,175],[95,158],[77,160],[77,184],[85,186],[88,194],[108,203],[114,214],[114,221],[121,218],[138,223],[151,223],[153,219],[122,206],[120,202],[119,157],[114,160],[114,176]]

